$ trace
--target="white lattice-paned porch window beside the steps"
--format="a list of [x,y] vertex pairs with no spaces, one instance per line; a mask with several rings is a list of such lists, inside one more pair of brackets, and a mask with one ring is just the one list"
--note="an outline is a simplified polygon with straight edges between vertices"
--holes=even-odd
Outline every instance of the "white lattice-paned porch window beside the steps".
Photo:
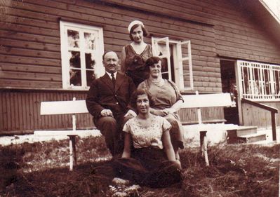
[[280,66],[237,61],[241,97],[250,100],[280,99]]

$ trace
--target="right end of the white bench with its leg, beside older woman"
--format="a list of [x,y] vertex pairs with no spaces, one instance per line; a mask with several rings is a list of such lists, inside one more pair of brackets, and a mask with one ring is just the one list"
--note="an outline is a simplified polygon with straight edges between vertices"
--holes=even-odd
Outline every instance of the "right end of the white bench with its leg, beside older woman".
[[[202,107],[234,107],[235,102],[232,102],[231,96],[229,93],[218,93],[218,94],[206,94],[199,95],[196,91],[196,95],[182,95],[184,103],[182,104],[181,109],[184,108],[196,108],[197,109],[197,118],[199,125],[202,124],[201,118],[201,108]],[[208,166],[208,154],[207,154],[207,130],[200,131],[200,146],[201,154],[205,158],[205,163]]]

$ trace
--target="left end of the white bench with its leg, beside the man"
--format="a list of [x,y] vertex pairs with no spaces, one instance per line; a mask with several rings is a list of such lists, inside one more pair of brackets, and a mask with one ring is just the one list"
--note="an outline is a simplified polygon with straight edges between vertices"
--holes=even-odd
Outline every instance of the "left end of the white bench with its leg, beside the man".
[[72,114],[72,130],[67,132],[69,137],[70,171],[73,170],[73,165],[76,165],[76,114],[84,113],[88,113],[86,101],[76,100],[75,97],[69,101],[41,102],[41,115]]

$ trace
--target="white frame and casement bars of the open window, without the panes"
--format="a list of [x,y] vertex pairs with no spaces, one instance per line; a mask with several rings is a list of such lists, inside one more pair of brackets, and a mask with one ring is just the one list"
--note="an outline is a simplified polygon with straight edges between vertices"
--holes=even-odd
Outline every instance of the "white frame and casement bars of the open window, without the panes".
[[[160,55],[159,57],[167,59],[168,64],[168,79],[171,79],[171,60],[170,60],[170,44],[175,46],[175,50],[173,50],[173,61],[174,61],[174,76],[175,76],[175,84],[178,86],[180,91],[184,92],[187,90],[194,90],[194,80],[192,74],[192,49],[191,49],[191,41],[175,41],[168,39],[168,37],[158,38],[152,37],[152,49],[153,55],[158,56],[160,53],[158,43],[165,44],[165,53]],[[182,57],[182,45],[187,45],[187,56]],[[188,63],[189,69],[188,73],[184,73],[183,62]],[[185,86],[184,77],[185,75],[189,75],[189,86]]]

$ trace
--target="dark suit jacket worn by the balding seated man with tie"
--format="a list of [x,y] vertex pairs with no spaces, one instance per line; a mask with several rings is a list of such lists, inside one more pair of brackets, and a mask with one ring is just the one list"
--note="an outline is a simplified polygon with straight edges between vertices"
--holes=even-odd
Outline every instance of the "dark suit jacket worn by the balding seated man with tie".
[[86,97],[86,107],[94,118],[100,117],[102,109],[111,109],[114,116],[127,111],[135,85],[129,76],[117,72],[115,88],[109,75],[105,73],[91,83]]

